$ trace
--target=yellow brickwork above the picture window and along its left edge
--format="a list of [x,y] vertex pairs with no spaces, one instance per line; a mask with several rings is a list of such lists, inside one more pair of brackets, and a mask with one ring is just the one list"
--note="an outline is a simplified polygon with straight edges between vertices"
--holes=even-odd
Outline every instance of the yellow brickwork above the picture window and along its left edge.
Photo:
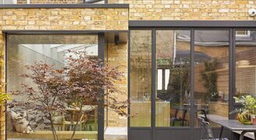
[[[128,9],[0,9],[0,48],[4,49],[2,30],[128,30]],[[5,138],[4,118],[0,139]]]

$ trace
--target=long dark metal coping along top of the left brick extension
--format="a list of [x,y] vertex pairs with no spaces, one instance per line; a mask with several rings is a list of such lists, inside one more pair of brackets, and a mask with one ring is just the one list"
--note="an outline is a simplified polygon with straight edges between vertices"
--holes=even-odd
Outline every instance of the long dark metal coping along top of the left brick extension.
[[129,4],[6,4],[0,9],[129,9]]

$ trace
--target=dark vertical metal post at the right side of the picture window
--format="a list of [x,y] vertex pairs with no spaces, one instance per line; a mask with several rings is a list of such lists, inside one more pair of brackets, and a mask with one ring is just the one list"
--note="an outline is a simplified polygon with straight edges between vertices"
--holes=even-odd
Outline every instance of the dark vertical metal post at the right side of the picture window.
[[[104,33],[98,33],[98,58],[104,63],[105,36]],[[104,65],[104,64],[103,64]],[[98,106],[98,139],[104,139],[104,90],[101,90],[101,103]]]

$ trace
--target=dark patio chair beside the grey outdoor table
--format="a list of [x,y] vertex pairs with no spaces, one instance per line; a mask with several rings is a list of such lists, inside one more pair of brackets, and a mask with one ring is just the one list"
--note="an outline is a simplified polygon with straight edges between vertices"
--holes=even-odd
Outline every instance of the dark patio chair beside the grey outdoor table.
[[[204,121],[203,118],[198,118],[201,128],[201,140],[229,140],[229,138],[214,138],[211,125],[208,121]],[[206,135],[206,139],[204,138]]]

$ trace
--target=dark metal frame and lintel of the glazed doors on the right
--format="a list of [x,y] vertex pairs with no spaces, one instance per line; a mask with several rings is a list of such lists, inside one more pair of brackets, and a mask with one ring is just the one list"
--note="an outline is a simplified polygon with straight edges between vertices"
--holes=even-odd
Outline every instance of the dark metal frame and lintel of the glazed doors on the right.
[[[236,30],[237,29],[254,29],[255,21],[130,21],[130,30],[151,30],[152,46],[152,77],[151,77],[151,127],[130,127],[130,117],[128,118],[128,139],[130,139],[131,131],[150,130],[151,140],[155,140],[155,131],[157,130],[190,130],[190,139],[198,134],[199,128],[194,128],[194,107],[190,107],[190,127],[171,128],[171,127],[155,127],[155,33],[156,30],[190,30],[190,99],[191,104],[194,103],[194,31],[195,30],[228,30],[229,31],[229,112],[239,106],[234,103],[233,96],[235,94],[235,49],[236,49]],[[128,47],[128,98],[130,100],[130,32]],[[130,108],[128,110],[130,114]],[[229,119],[234,116],[229,115]],[[219,128],[213,128],[218,131]],[[184,133],[186,134],[186,133]],[[233,138],[231,131],[226,131],[226,135]],[[132,140],[132,139],[130,139]]]

